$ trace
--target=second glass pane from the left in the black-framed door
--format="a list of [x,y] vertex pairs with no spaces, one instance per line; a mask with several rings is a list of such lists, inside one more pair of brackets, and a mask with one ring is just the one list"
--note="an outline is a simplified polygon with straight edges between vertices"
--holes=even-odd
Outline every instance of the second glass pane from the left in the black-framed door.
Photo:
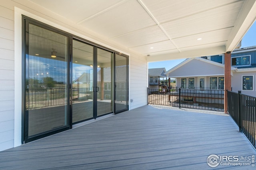
[[93,46],[73,40],[73,123],[93,118],[93,50]]

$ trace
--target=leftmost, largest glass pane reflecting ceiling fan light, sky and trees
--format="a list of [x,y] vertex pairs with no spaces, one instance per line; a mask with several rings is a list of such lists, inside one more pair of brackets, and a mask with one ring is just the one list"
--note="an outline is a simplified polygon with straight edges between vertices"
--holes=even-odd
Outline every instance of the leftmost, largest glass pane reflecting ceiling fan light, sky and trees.
[[29,24],[26,54],[28,137],[68,125],[68,37]]

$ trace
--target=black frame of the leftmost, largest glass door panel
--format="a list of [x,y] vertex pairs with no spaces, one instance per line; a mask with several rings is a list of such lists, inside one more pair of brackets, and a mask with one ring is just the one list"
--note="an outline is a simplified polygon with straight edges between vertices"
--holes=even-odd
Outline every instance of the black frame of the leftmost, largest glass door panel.
[[[38,27],[41,27],[43,29],[47,29],[49,31],[53,31],[54,33],[58,33],[61,35],[64,35],[67,37],[68,42],[67,42],[67,124],[66,126],[60,127],[59,129],[55,129],[53,131],[46,131],[44,133],[40,133],[36,136],[32,136],[32,137],[28,137],[28,110],[26,110],[26,78],[28,77],[28,66],[26,66],[26,60],[28,60],[28,55],[29,55],[29,47],[28,47],[28,25],[29,24],[33,24],[36,25]],[[72,43],[72,36],[68,33],[66,33],[65,31],[62,31],[60,29],[57,28],[53,28],[50,25],[47,25],[45,23],[42,23],[40,21],[36,21],[32,18],[29,18],[27,16],[22,15],[22,96],[24,96],[22,98],[22,143],[28,143],[30,141],[34,141],[46,136],[50,136],[53,135],[55,133],[59,133],[62,131],[66,131],[68,129],[72,129],[72,121],[70,122],[70,120],[72,120],[72,118],[70,119],[70,100],[68,100],[68,96],[70,96],[70,72],[69,72],[69,68],[70,68],[70,61],[71,61],[71,43]]]

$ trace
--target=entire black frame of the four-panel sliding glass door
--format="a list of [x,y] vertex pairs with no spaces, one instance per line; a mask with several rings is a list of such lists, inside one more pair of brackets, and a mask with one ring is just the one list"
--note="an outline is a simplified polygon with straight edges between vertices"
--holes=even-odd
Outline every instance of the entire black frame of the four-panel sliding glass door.
[[[28,36],[26,36],[26,33],[28,33],[28,23],[32,23],[36,26],[39,26],[39,27],[42,27],[44,29],[47,29],[47,30],[50,30],[50,31],[53,31],[55,33],[60,33],[62,35],[65,35],[66,37],[68,37],[68,49],[67,49],[67,52],[68,52],[68,59],[67,59],[67,120],[68,120],[68,125],[63,127],[63,128],[60,128],[60,129],[57,129],[57,130],[54,130],[54,131],[49,131],[49,132],[45,132],[45,133],[42,133],[42,134],[39,134],[35,137],[31,137],[31,138],[28,138],[28,111],[26,111],[26,74],[28,72],[28,68],[26,67],[26,57],[28,56]],[[116,99],[116,92],[115,92],[115,56],[116,54],[118,55],[122,55],[124,57],[127,57],[127,100],[129,100],[129,79],[128,79],[128,74],[129,74],[129,56],[127,55],[124,55],[124,54],[121,54],[120,52],[118,51],[115,51],[113,49],[109,49],[107,47],[104,47],[102,45],[99,45],[97,43],[94,43],[92,41],[88,41],[86,39],[82,39],[80,37],[77,37],[76,35],[73,35],[71,33],[68,33],[68,32],[65,32],[65,31],[62,31],[58,28],[55,28],[55,27],[52,27],[51,25],[48,25],[48,24],[45,24],[45,23],[42,23],[40,21],[37,21],[37,20],[34,20],[30,17],[27,17],[27,16],[24,16],[22,15],[22,132],[21,132],[21,135],[22,135],[22,138],[21,138],[21,142],[22,143],[28,143],[30,141],[34,141],[36,139],[40,139],[42,137],[46,137],[46,136],[49,136],[49,135],[52,135],[52,134],[55,134],[55,133],[59,133],[61,131],[66,131],[68,129],[72,129],[72,125],[73,124],[76,124],[76,123],[80,123],[82,121],[86,121],[86,120],[82,120],[82,121],[79,121],[79,122],[76,122],[76,123],[72,123],[72,41],[73,40],[76,40],[76,41],[81,41],[82,43],[86,43],[88,45],[92,45],[94,46],[94,61],[93,61],[93,64],[94,64],[94,70],[93,70],[93,74],[94,74],[94,82],[93,82],[93,97],[94,97],[94,104],[93,104],[93,112],[94,112],[94,116],[92,119],[96,119],[97,117],[100,117],[100,116],[103,116],[103,115],[100,115],[100,116],[97,116],[97,91],[98,91],[98,87],[97,87],[97,49],[102,49],[102,50],[106,50],[110,53],[113,53],[113,61],[112,61],[112,67],[113,67],[113,78],[112,78],[112,87],[113,87],[113,92],[112,92],[112,100],[113,100],[113,111],[110,112],[110,113],[115,113],[116,109],[115,109],[115,99]],[[127,107],[129,105],[129,101],[127,101]],[[128,110],[129,108],[125,109],[125,110],[122,110],[122,111],[126,111]],[[118,111],[118,113],[122,112],[122,111]],[[104,115],[107,115],[107,114],[110,114],[110,113],[106,113]]]

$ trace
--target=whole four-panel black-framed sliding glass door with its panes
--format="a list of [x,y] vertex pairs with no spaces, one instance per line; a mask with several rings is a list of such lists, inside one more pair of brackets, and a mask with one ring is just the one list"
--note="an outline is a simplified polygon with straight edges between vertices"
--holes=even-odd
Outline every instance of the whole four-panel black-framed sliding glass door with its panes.
[[23,19],[22,142],[128,109],[127,56]]

